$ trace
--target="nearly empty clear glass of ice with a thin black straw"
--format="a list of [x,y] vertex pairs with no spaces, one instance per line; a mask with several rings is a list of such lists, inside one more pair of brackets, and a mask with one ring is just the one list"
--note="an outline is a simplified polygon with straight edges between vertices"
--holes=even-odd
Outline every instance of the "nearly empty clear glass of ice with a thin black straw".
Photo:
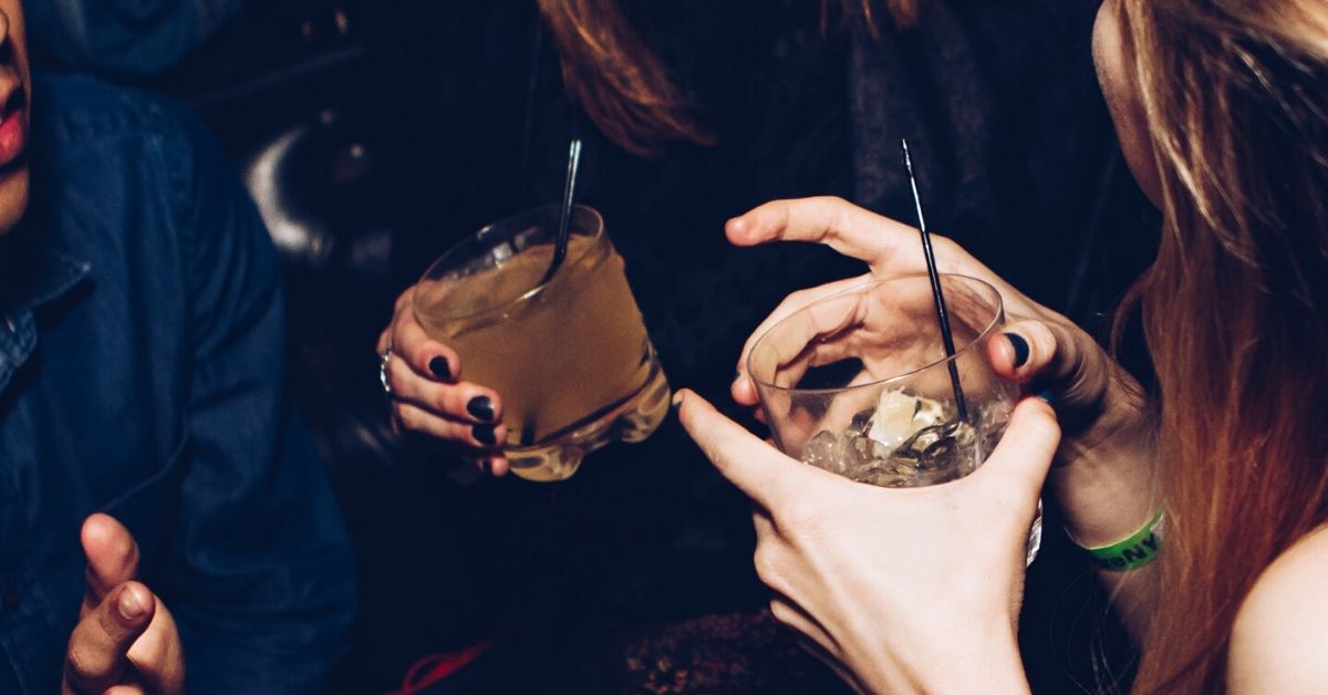
[[[757,339],[748,373],[784,453],[887,488],[948,482],[981,465],[1019,397],[987,360],[1004,307],[1000,292],[975,278],[942,275],[940,286],[952,357],[927,275],[850,287]],[[1040,545],[1041,510],[1028,562]]]

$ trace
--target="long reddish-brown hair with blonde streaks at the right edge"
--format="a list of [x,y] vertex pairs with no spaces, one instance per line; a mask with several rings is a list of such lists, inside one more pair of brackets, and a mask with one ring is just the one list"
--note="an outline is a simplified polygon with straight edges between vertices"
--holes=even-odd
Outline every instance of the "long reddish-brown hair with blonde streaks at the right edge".
[[1222,692],[1236,610],[1328,521],[1328,5],[1122,0],[1165,229],[1137,286],[1167,549],[1135,692]]

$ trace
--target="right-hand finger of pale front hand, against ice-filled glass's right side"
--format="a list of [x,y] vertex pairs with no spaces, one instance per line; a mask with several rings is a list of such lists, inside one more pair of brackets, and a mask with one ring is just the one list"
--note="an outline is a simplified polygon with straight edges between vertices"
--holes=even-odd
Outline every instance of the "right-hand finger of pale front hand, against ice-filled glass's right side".
[[987,461],[969,477],[1001,478],[1012,485],[1011,494],[1023,496],[1012,502],[1037,504],[1037,497],[1046,481],[1056,448],[1061,441],[1061,428],[1052,407],[1037,397],[1027,397],[1015,407],[1005,435]]

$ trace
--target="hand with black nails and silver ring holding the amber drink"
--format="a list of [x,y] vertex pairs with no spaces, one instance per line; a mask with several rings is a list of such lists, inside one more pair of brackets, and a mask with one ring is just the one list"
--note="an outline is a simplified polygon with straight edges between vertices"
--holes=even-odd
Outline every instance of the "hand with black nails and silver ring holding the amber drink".
[[466,449],[481,468],[507,472],[502,444],[502,400],[493,389],[459,381],[461,359],[425,335],[416,320],[412,287],[397,298],[392,324],[378,336],[378,355],[392,351],[384,371],[392,395],[392,425]]

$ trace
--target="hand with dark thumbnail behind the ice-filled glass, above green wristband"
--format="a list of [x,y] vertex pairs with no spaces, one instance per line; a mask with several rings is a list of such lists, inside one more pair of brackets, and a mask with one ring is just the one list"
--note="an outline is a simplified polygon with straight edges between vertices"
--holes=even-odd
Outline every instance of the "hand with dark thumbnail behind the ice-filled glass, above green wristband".
[[[927,271],[916,229],[839,198],[769,202],[730,219],[725,231],[737,246],[780,241],[825,243],[841,254],[865,260],[870,267],[869,276],[789,295],[752,332],[742,348],[738,377],[733,383],[733,399],[744,405],[757,404],[756,387],[745,369],[748,352],[777,322],[815,299],[870,276]],[[1127,534],[1151,518],[1155,509],[1149,490],[1143,490],[1143,494],[1138,489],[1130,490],[1138,510],[1122,510],[1120,501],[1108,501],[1110,520],[1096,513],[1100,509],[1094,508],[1102,506],[1096,504],[1096,498],[1085,498],[1084,494],[1093,484],[1102,482],[1101,466],[1110,466],[1113,476],[1122,466],[1129,468],[1127,477],[1142,485],[1151,480],[1154,416],[1138,383],[1069,319],[1025,296],[952,241],[932,235],[932,247],[940,272],[969,275],[992,284],[1000,292],[1011,323],[1003,331],[1007,334],[1004,340],[989,343],[989,359],[996,373],[1027,384],[1028,391],[1042,393],[1056,404],[1065,431],[1065,443],[1057,460],[1066,465],[1053,473],[1052,482],[1062,504],[1085,512],[1074,517],[1074,509],[1070,509],[1070,530],[1076,537],[1084,542],[1106,540],[1100,536],[1112,536],[1117,525],[1123,529],[1134,524],[1125,532]],[[1078,480],[1076,476],[1062,474],[1070,469],[1077,469]],[[1113,485],[1108,492],[1125,490]]]

